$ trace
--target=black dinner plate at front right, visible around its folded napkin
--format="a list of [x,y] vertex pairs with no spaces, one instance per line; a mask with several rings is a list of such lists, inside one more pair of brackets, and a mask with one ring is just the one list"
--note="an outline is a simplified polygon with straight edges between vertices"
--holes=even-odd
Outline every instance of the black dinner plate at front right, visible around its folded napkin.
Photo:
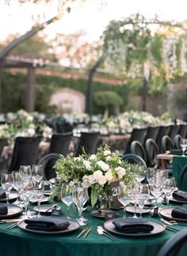
[[[120,218],[123,219],[123,218]],[[110,231],[116,235],[125,235],[125,236],[132,236],[132,237],[140,237],[140,236],[151,236],[151,235],[158,235],[165,231],[165,226],[162,223],[159,223],[156,220],[146,219],[147,223],[150,223],[154,229],[150,232],[141,232],[141,233],[124,233],[123,231],[119,231],[113,224],[113,219],[109,219],[104,223],[104,227],[107,231]]]

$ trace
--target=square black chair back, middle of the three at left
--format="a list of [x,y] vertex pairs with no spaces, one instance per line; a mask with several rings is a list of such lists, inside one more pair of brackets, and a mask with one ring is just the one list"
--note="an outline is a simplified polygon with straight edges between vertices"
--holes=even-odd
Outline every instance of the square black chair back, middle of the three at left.
[[70,142],[73,138],[73,133],[52,134],[48,153],[60,153],[64,157],[69,153]]

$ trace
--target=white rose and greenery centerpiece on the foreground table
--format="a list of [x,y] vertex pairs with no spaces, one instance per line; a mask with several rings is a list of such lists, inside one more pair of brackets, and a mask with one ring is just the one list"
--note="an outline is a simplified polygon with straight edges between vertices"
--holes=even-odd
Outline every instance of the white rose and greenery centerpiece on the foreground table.
[[87,155],[83,153],[79,157],[63,157],[60,155],[54,166],[59,177],[60,189],[62,182],[76,183],[83,182],[87,187],[91,188],[91,204],[97,203],[97,196],[112,196],[111,182],[115,180],[123,180],[125,183],[133,180],[133,169],[129,168],[129,164],[121,161],[119,151],[112,153],[109,145],[99,147],[96,154]]

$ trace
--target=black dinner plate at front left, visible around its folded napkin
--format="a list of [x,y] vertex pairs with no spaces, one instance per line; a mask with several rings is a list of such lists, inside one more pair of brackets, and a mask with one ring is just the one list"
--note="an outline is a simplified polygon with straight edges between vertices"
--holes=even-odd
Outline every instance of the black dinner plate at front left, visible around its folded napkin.
[[[63,218],[63,219],[67,219],[67,218]],[[18,227],[20,227],[24,231],[28,231],[30,233],[37,234],[37,235],[66,235],[68,233],[78,230],[80,225],[76,220],[74,219],[67,219],[67,220],[69,221],[70,226],[62,231],[35,231],[32,229],[27,229],[26,228],[27,224],[25,223],[25,220],[22,220],[20,223],[18,223]]]

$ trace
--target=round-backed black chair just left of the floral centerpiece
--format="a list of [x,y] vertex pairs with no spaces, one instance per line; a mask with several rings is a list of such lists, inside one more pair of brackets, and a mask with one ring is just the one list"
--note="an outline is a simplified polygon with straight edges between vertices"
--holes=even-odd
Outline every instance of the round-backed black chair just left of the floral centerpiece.
[[38,165],[42,165],[43,167],[44,180],[51,180],[56,177],[55,169],[53,167],[57,159],[59,159],[59,153],[48,153],[38,161]]

